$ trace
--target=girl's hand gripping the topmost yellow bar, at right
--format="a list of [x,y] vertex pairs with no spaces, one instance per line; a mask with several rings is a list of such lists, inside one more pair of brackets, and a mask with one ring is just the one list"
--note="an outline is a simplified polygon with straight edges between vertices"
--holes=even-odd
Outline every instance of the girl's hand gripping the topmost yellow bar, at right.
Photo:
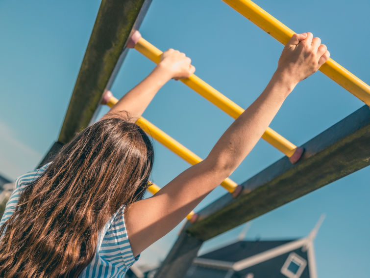
[[294,34],[283,49],[276,71],[296,85],[316,72],[329,56],[321,39],[314,38],[311,32]]

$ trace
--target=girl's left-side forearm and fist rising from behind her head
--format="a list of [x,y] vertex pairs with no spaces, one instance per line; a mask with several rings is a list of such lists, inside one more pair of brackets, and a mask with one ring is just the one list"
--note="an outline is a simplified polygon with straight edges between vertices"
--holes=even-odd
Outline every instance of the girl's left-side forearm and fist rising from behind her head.
[[160,63],[141,83],[126,93],[103,118],[119,111],[127,111],[135,122],[147,109],[158,90],[170,79],[187,78],[195,72],[191,59],[184,53],[169,49],[164,52]]

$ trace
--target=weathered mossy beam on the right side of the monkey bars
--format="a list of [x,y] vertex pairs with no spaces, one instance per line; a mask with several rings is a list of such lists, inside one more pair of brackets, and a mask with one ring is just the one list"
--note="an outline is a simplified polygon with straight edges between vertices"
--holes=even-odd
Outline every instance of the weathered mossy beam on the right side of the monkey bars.
[[[205,241],[370,165],[370,110],[364,106],[303,145],[300,161],[284,157],[199,212],[187,232]],[[167,259],[166,259],[167,260]]]

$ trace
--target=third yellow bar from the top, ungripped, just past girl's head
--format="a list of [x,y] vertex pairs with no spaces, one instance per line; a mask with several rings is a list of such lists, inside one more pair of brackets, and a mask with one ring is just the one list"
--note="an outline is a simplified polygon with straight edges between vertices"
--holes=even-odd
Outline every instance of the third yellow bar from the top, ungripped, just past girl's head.
[[[109,107],[113,107],[117,102],[118,99],[115,98],[110,91],[106,91],[101,103],[106,104]],[[179,157],[181,157],[191,165],[195,165],[202,161],[202,159],[198,157],[195,153],[193,153],[191,150],[177,142],[168,134],[157,128],[145,118],[140,117],[136,121],[136,124],[154,139],[172,150],[175,154],[177,154]],[[238,186],[238,184],[230,178],[226,178],[224,181],[222,181],[221,186],[225,188],[229,193],[233,194],[233,196],[238,195],[241,190],[241,187]]]

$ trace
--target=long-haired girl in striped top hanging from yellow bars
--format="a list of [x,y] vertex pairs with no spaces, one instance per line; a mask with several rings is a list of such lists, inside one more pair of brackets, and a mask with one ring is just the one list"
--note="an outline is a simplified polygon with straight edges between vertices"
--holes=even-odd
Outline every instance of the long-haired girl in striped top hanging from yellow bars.
[[328,58],[312,33],[293,35],[266,89],[207,158],[143,200],[153,147],[135,120],[168,80],[195,72],[190,58],[168,50],[143,82],[52,163],[17,179],[0,222],[0,276],[124,277],[140,252],[238,167],[296,84]]

